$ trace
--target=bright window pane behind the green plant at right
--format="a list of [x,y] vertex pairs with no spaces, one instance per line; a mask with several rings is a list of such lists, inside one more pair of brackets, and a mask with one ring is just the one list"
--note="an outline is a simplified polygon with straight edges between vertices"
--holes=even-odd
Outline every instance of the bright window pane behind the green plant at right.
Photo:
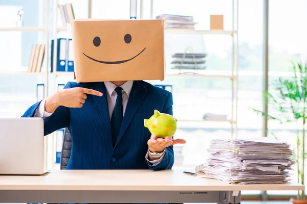
[[[274,92],[273,82],[279,77],[287,77],[292,73],[291,62],[298,63],[306,60],[307,39],[304,33],[307,27],[301,24],[300,19],[307,17],[307,14],[303,12],[307,9],[307,2],[271,0],[269,9],[269,91]],[[269,107],[270,114],[274,111]],[[285,125],[269,121],[268,127],[278,139],[288,141],[293,147],[295,146],[296,124]],[[296,181],[296,170],[293,173],[292,179]],[[268,191],[268,194],[283,193]],[[287,192],[287,194],[296,195],[296,191]]]

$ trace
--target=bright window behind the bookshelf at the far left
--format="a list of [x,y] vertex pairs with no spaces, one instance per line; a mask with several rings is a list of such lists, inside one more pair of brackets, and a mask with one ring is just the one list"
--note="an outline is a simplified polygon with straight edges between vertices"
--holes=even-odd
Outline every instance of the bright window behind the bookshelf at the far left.
[[[43,1],[0,2],[0,28],[42,28]],[[23,21],[17,20],[17,12],[23,10]],[[36,85],[45,83],[39,75],[16,75],[27,72],[32,44],[45,42],[43,32],[0,32],[0,117],[20,117],[36,101]],[[6,75],[5,75],[6,74]]]

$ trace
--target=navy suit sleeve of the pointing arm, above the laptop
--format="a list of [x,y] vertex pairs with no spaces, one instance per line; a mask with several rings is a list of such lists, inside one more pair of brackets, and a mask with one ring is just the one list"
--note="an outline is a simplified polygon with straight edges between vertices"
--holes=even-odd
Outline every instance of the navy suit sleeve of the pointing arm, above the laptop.
[[[64,89],[71,88],[71,83],[67,83]],[[21,117],[35,117],[37,108],[39,107],[41,101],[38,101],[32,105]],[[60,106],[58,107],[50,117],[43,118],[44,121],[44,136],[53,133],[59,129],[67,127],[70,123],[70,113],[69,108]]]

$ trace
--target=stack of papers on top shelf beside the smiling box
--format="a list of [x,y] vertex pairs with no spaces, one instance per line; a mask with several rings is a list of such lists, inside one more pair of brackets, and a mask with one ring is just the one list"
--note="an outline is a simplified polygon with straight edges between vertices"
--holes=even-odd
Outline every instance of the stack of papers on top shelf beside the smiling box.
[[194,29],[194,25],[196,24],[193,21],[193,16],[161,14],[156,18],[164,20],[165,28]]

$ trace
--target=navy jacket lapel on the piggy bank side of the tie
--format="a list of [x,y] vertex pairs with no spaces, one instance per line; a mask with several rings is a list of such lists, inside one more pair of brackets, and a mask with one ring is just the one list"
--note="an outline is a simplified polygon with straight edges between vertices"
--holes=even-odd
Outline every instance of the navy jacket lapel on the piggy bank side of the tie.
[[135,116],[135,113],[143,101],[146,91],[147,88],[142,85],[141,81],[134,81],[115,147],[121,140],[131,120]]

